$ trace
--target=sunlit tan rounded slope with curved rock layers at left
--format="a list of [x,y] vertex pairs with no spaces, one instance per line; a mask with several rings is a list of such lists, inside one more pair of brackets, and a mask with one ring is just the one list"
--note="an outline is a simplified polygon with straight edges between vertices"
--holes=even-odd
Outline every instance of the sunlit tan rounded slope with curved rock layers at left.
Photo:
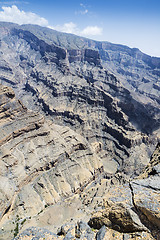
[[69,197],[92,181],[102,163],[83,137],[68,127],[44,122],[23,107],[10,88],[0,89],[3,225],[8,216],[32,217]]

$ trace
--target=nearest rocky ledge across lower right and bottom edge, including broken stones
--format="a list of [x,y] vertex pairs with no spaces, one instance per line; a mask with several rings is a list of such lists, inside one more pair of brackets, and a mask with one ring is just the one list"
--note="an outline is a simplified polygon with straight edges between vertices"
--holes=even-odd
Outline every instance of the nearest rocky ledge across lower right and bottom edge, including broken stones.
[[[84,189],[83,201],[87,194],[90,195],[90,201],[86,201],[85,205],[87,205],[90,210],[93,207],[92,205],[94,205],[94,212],[90,215],[88,222],[85,222],[82,219],[75,222],[72,218],[70,221],[67,221],[67,223],[57,228],[54,233],[53,226],[50,227],[49,230],[44,227],[39,228],[37,225],[36,227],[30,227],[24,230],[15,238],[15,240],[25,240],[28,239],[28,237],[63,240],[159,240],[159,165],[160,144],[157,145],[150,164],[144,169],[144,172],[138,178],[124,184],[120,183],[120,181],[119,183],[117,182],[118,184],[116,181],[114,183],[112,182],[112,187],[107,191],[104,191],[104,186],[107,185],[106,179],[101,179],[100,184],[94,184],[94,187],[92,185],[92,187],[88,186]],[[96,194],[95,189],[97,191]],[[101,192],[101,197],[97,196],[100,195],[97,194],[98,192]],[[101,200],[101,202],[99,202],[99,200]],[[69,204],[72,206],[73,203],[69,201]],[[52,211],[53,209],[51,210],[51,213],[53,213]],[[43,226],[46,221],[45,217],[46,213],[43,213],[38,220],[40,223],[43,219]],[[58,217],[60,217],[60,215],[58,215]]]

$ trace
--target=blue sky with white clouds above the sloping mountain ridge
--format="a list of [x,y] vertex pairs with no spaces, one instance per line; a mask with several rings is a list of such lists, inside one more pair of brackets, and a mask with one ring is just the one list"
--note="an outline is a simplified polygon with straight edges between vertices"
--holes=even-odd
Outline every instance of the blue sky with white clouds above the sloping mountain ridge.
[[160,0],[0,0],[0,21],[38,24],[160,57]]

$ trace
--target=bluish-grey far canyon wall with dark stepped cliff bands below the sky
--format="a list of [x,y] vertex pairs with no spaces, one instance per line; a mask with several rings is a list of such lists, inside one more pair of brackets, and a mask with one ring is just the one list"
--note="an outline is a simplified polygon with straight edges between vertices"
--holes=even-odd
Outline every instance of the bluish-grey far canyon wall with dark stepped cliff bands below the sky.
[[13,86],[26,107],[69,126],[90,144],[101,142],[98,155],[107,173],[139,175],[159,136],[153,74],[159,59],[38,26],[0,28],[2,83]]

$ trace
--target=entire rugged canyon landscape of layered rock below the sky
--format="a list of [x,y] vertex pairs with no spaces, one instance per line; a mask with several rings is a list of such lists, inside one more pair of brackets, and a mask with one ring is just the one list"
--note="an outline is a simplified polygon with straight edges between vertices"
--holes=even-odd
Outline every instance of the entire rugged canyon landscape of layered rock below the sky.
[[160,59],[0,30],[0,239],[160,239]]

